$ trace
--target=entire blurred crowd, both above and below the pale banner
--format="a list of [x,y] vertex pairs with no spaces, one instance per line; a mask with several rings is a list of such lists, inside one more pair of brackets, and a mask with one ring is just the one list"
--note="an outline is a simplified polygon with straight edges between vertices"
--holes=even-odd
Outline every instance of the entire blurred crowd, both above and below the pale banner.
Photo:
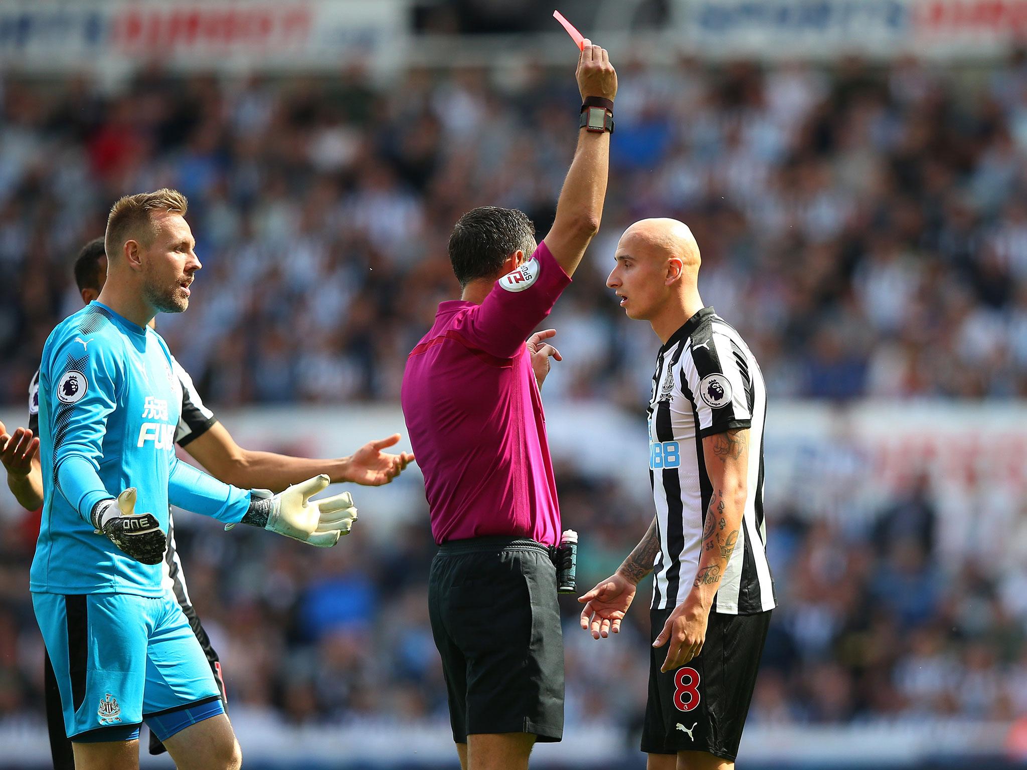
[[[687,222],[699,287],[753,347],[771,399],[1027,396],[1027,60],[988,70],[855,60],[674,68],[618,62],[603,230],[554,312],[565,360],[547,401],[633,411],[657,345],[604,287],[636,219]],[[457,296],[449,230],[467,208],[526,210],[541,237],[577,134],[570,72],[412,70],[333,78],[0,83],[0,402],[21,405],[46,335],[77,309],[70,259],[120,194],[176,187],[203,269],[161,316],[217,408],[397,398],[407,352]],[[558,470],[588,533],[587,587],[648,513],[615,479]],[[768,484],[771,482],[768,482]],[[929,485],[875,525],[768,511],[781,609],[754,723],[1027,710],[1027,595],[987,560],[938,557]],[[10,511],[7,511],[8,513]],[[233,708],[303,724],[444,717],[426,615],[425,511],[339,548],[179,535]],[[38,519],[0,529],[0,720],[38,715],[42,650],[27,593]],[[210,536],[208,536],[210,535]],[[565,600],[569,724],[638,726],[648,583],[595,643]]]

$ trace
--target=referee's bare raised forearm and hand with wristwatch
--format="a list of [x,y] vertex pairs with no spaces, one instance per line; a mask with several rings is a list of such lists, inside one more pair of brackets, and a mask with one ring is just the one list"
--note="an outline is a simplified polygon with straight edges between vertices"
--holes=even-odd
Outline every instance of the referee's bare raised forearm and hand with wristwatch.
[[568,275],[577,269],[603,218],[617,95],[617,73],[610,55],[591,40],[584,41],[576,76],[582,101],[577,150],[560,192],[553,228],[543,239]]

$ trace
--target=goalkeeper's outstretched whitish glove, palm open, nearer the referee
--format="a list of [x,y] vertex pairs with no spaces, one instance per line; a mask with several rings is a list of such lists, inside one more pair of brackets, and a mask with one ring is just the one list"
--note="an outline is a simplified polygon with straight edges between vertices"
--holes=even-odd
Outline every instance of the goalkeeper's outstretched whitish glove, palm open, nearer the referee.
[[[300,542],[330,548],[339,538],[349,534],[356,521],[356,508],[348,492],[324,500],[310,500],[328,487],[329,477],[321,473],[284,492],[272,495],[268,490],[250,491],[250,510],[242,524],[263,527]],[[233,525],[225,527],[230,530]]]

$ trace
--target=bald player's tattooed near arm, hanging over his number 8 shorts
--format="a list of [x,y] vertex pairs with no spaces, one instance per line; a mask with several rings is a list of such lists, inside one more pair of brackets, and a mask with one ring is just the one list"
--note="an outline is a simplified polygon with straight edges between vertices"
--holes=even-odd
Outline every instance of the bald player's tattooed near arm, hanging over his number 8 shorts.
[[748,496],[749,428],[702,438],[702,457],[713,485],[702,526],[701,555],[688,596],[671,613],[653,647],[670,642],[661,671],[680,668],[702,650],[720,579],[741,530]]

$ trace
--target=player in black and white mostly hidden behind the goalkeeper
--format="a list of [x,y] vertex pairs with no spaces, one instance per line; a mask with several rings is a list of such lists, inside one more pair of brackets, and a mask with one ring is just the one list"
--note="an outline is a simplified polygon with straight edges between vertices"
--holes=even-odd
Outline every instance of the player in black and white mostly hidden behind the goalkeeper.
[[[86,243],[75,259],[75,282],[82,302],[88,305],[104,287],[107,279],[107,256],[104,239],[94,238]],[[152,322],[151,322],[152,325]],[[298,484],[319,472],[327,473],[332,483],[352,482],[367,486],[388,484],[413,460],[412,455],[390,455],[382,449],[393,446],[400,435],[371,441],[351,457],[335,460],[308,460],[269,452],[254,452],[240,448],[228,430],[217,420],[200,399],[192,378],[172,356],[172,368],[179,379],[182,391],[182,416],[175,440],[213,476],[238,487],[252,488],[264,484],[272,492],[280,492],[290,484]],[[36,510],[43,503],[42,472],[39,463],[39,372],[29,386],[28,428],[17,428],[7,435],[0,422],[0,462],[7,471],[7,485],[14,497],[28,510]],[[167,550],[164,553],[163,582],[189,619],[221,689],[222,701],[227,707],[222,667],[217,651],[189,598],[185,573],[175,543],[175,525],[170,513],[167,519]],[[54,770],[73,770],[75,767],[71,741],[65,734],[61,694],[53,676],[49,657],[44,665],[44,695],[46,721],[49,728],[50,750]],[[161,754],[164,746],[157,736],[150,733],[150,753]]]

